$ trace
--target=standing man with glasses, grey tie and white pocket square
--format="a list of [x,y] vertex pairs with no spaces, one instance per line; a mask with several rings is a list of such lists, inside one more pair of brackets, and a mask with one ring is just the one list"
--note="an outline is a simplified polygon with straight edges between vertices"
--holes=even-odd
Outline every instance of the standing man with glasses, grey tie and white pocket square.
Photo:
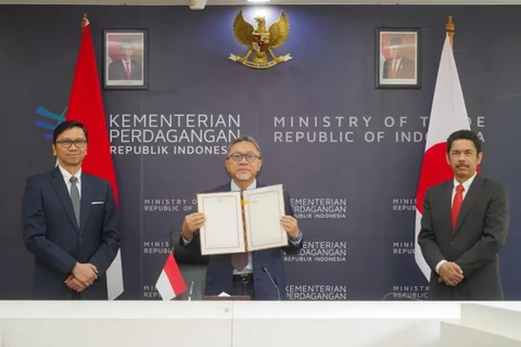
[[36,299],[106,299],[105,271],[119,249],[109,182],[81,171],[88,134],[64,121],[53,133],[58,166],[29,177],[22,206],[24,241],[35,255]]

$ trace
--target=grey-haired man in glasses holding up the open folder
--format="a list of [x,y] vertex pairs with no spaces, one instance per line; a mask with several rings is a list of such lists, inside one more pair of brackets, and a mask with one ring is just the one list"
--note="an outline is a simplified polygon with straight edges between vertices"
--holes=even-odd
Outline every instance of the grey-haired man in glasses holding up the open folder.
[[[263,160],[260,147],[252,137],[241,137],[228,147],[225,160],[231,181],[209,192],[229,192],[264,187],[256,180]],[[289,245],[282,248],[263,249],[242,254],[213,255],[208,257],[206,270],[206,295],[250,295],[256,300],[284,299],[285,275],[282,252],[296,254],[303,245],[303,235],[298,230],[290,197],[284,192],[285,216],[281,224],[288,233]],[[199,229],[204,224],[201,213],[185,217],[180,243],[194,254],[201,254]],[[265,267],[272,277],[278,291],[271,283]]]

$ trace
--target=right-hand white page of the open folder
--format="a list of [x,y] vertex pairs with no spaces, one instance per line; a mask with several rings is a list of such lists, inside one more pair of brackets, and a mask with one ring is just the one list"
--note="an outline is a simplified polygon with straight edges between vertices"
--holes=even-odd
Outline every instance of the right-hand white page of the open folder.
[[283,247],[288,234],[280,219],[284,215],[282,184],[244,191],[247,250]]

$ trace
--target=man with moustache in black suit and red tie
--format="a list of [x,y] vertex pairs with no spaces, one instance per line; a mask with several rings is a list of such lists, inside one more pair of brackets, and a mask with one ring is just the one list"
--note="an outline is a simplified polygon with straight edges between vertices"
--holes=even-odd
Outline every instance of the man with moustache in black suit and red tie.
[[418,243],[432,269],[433,300],[503,300],[498,252],[508,233],[508,193],[476,174],[483,153],[470,130],[447,140],[454,180],[428,190]]

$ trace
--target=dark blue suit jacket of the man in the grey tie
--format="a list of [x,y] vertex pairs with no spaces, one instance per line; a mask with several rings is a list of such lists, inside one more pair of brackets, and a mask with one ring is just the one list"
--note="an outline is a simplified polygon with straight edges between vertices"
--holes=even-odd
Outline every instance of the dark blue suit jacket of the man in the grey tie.
[[[35,255],[36,299],[78,298],[64,283],[76,261],[97,267],[99,279],[81,299],[106,299],[105,271],[119,249],[117,210],[105,180],[81,171],[80,226],[62,172],[29,177],[22,206],[24,241]],[[92,204],[94,202],[94,204]]]

